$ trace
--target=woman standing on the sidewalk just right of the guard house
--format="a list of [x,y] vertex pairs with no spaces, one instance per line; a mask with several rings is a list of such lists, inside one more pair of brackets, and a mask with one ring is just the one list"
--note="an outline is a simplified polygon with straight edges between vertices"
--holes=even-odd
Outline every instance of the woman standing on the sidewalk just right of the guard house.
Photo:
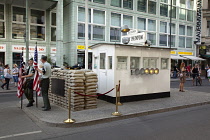
[[186,82],[186,69],[185,69],[185,63],[182,62],[180,66],[180,84],[179,84],[179,91],[184,91],[184,83]]

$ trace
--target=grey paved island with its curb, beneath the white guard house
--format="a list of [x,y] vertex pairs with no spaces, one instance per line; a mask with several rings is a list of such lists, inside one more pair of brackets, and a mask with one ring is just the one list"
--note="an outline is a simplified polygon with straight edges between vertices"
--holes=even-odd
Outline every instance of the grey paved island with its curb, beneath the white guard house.
[[178,92],[178,89],[171,89],[170,98],[124,103],[123,106],[119,106],[119,112],[122,113],[120,117],[111,115],[115,112],[114,104],[98,100],[97,109],[72,112],[72,119],[76,120],[74,124],[63,123],[68,118],[68,110],[52,104],[52,110],[45,112],[41,110],[42,99],[38,100],[38,108],[35,105],[26,108],[27,102],[24,100],[23,111],[33,120],[49,126],[75,127],[210,104],[210,94],[196,91]]

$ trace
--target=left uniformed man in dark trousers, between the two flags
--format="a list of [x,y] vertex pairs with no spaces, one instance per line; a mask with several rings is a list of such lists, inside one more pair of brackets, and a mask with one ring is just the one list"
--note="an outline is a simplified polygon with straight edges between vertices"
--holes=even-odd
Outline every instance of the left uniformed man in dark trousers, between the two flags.
[[33,106],[34,98],[33,98],[33,81],[34,81],[34,67],[33,67],[33,58],[28,60],[28,68],[26,69],[26,75],[22,76],[22,78],[26,78],[25,83],[23,84],[24,93],[29,103],[26,107]]

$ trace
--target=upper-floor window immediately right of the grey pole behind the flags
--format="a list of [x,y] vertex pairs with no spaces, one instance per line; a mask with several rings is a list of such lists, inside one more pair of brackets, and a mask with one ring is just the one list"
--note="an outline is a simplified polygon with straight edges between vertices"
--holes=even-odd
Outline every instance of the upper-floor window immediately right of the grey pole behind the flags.
[[31,9],[31,40],[45,40],[45,12]]

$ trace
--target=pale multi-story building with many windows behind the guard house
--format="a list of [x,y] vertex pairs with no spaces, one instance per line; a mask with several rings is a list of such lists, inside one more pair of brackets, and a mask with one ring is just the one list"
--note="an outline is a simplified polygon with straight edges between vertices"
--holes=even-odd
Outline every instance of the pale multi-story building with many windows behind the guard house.
[[[12,64],[24,47],[25,0],[2,0],[0,4],[0,59]],[[38,43],[40,54],[52,54],[56,63],[84,63],[85,1],[36,0],[30,3],[30,46]],[[196,0],[89,0],[89,46],[120,43],[120,28],[146,32],[154,47],[170,46],[172,55],[196,54]],[[55,49],[56,48],[56,49]],[[31,48],[31,53],[33,49]],[[90,51],[91,52],[91,51]],[[56,53],[53,54],[53,53]],[[91,53],[90,53],[91,55]],[[64,58],[64,59],[63,59]],[[53,58],[54,59],[54,58]]]

